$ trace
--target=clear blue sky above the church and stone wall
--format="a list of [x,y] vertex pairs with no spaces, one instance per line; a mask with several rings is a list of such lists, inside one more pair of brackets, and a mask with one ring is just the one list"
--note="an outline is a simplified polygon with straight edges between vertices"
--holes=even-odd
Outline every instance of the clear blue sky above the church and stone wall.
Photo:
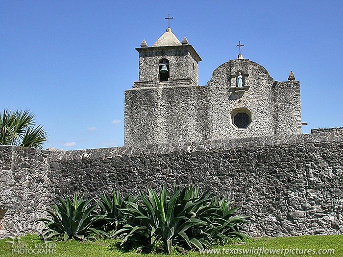
[[0,108],[29,109],[50,146],[123,145],[124,91],[138,80],[142,40],[166,30],[202,58],[199,84],[237,58],[274,80],[300,80],[303,132],[343,126],[342,1],[4,0],[0,8]]

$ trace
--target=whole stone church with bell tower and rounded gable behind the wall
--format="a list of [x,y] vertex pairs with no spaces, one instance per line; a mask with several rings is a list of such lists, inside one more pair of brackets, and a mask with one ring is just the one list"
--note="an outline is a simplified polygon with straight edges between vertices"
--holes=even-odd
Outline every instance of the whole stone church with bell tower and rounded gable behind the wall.
[[136,50],[139,81],[125,91],[125,145],[301,134],[300,83],[292,71],[288,81],[274,81],[240,53],[199,86],[201,58],[171,28]]

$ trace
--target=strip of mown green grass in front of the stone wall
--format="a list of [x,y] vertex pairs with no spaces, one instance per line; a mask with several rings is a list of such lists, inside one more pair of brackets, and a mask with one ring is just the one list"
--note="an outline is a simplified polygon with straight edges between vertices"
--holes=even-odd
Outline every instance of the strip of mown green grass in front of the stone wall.
[[[7,242],[8,239],[0,240],[0,257],[133,257],[140,254],[133,252],[123,253],[118,249],[118,241],[116,240],[96,240],[96,241],[68,241],[68,242],[54,242],[56,244],[56,254],[12,254],[12,245]],[[37,235],[26,235],[20,238],[20,243],[27,244],[27,248],[34,248],[35,244],[42,243]],[[241,245],[239,245],[241,244]],[[246,239],[239,241],[236,244],[219,246],[214,249],[254,249],[258,247],[265,247],[265,249],[334,249],[335,254],[317,255],[342,257],[343,256],[343,235],[311,235],[311,236],[294,236],[294,237],[263,237],[255,239]],[[236,250],[238,251],[238,250]],[[142,257],[166,257],[167,255],[141,255]],[[258,256],[256,254],[199,254],[197,252],[190,252],[184,257],[249,257]],[[281,254],[266,254],[261,257],[280,257]],[[289,257],[307,257],[316,256],[308,254],[288,254]]]

